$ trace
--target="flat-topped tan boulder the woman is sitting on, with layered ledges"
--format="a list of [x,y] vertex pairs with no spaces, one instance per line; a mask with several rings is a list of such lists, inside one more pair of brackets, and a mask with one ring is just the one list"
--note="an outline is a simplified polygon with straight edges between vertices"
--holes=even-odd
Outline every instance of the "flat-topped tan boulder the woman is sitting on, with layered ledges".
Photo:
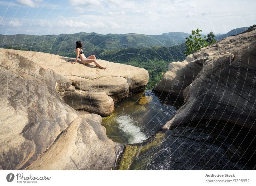
[[[127,98],[133,93],[142,92],[148,83],[148,71],[130,65],[99,59],[98,62],[107,67],[107,69],[103,70],[95,67],[94,63],[84,65],[79,60],[78,63],[71,64],[71,62],[75,61],[74,58],[65,58],[54,54],[11,49],[0,50],[25,56],[43,68],[52,69],[54,72],[67,77],[72,82],[72,86],[80,92],[62,93],[61,96],[65,95],[63,97],[64,101],[74,109],[79,108],[102,116],[113,112],[114,103]],[[88,92],[92,92],[90,97],[88,97]],[[99,94],[96,92],[104,95],[100,98],[101,100],[99,100]],[[81,97],[70,102],[73,96],[77,97],[83,93],[85,95],[82,97],[85,100],[81,100]],[[110,97],[113,100],[112,103],[109,101]],[[88,99],[98,101],[94,102],[94,105],[81,105],[81,103],[87,102]],[[109,108],[109,110],[106,111],[106,108]]]

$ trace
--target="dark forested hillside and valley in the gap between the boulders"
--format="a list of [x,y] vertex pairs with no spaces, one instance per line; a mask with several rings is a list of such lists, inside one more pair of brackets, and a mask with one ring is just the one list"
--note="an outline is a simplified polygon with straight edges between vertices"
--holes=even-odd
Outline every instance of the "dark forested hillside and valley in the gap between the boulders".
[[168,65],[173,61],[185,59],[186,46],[180,44],[172,47],[152,46],[144,48],[126,48],[105,51],[97,58],[137,66],[148,70],[147,89],[153,89],[168,71]]

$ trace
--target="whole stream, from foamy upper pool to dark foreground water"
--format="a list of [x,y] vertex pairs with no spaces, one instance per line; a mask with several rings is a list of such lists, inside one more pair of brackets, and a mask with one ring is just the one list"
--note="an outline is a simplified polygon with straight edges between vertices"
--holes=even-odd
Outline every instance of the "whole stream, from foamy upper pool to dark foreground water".
[[115,104],[102,118],[107,136],[124,144],[115,170],[254,170],[256,131],[230,123],[204,121],[168,131],[161,127],[182,98],[146,91]]

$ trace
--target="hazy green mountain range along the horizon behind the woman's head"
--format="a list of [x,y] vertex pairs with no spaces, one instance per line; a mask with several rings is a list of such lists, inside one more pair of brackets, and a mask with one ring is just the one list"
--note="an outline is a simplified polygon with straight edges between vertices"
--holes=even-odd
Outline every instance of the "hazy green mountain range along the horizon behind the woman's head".
[[99,55],[105,50],[143,48],[150,46],[175,46],[185,42],[186,33],[171,32],[162,35],[143,34],[97,34],[80,32],[60,35],[0,35],[6,39],[1,48],[41,51],[60,56],[74,57],[75,43],[82,41],[85,55]]

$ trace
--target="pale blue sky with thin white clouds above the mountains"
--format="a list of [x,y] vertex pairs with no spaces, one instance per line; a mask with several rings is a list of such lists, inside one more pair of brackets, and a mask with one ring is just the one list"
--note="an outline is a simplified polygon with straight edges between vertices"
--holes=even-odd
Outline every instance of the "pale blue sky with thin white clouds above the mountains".
[[255,0],[0,0],[0,34],[218,34],[255,24],[255,7]]

